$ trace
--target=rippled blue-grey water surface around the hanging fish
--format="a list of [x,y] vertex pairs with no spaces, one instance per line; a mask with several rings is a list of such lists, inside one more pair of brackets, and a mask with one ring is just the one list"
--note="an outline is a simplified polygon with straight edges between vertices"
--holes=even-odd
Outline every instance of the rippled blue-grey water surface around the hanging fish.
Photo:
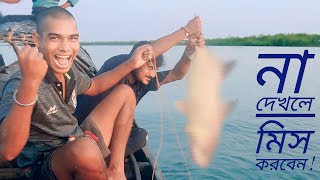
[[[87,46],[85,47],[98,67],[104,60],[130,51],[130,46]],[[174,103],[185,98],[185,80],[165,85],[158,92],[149,93],[139,103],[136,119],[140,126],[150,134],[148,146],[156,154],[162,135],[162,149],[159,157],[159,166],[167,179],[189,179],[190,171],[193,179],[317,179],[320,172],[318,134],[319,124],[319,95],[320,95],[320,54],[317,48],[287,48],[287,47],[209,47],[223,61],[236,60],[237,66],[226,77],[223,85],[223,96],[226,100],[238,99],[236,109],[225,121],[219,147],[214,154],[209,168],[199,169],[190,160],[188,143],[184,134],[186,119],[176,112]],[[275,75],[267,75],[267,83],[260,86],[256,81],[258,71],[265,66],[282,68],[283,60],[258,61],[259,53],[295,53],[303,54],[308,49],[316,54],[314,60],[309,60],[304,73],[300,97],[315,97],[311,108],[316,118],[275,118],[287,130],[314,130],[311,135],[307,153],[301,148],[290,149],[284,147],[283,153],[268,152],[262,148],[256,154],[260,126],[268,118],[256,118],[256,103],[262,97],[295,96],[293,94],[297,72],[300,67],[298,60],[290,64],[283,94],[277,95],[279,81]],[[1,53],[6,60],[14,59],[12,49],[0,46]],[[178,46],[165,54],[165,67],[172,68],[183,52]],[[261,61],[261,62],[260,62]],[[162,128],[163,132],[160,133]],[[210,139],[208,139],[210,141]],[[303,143],[302,143],[303,144]],[[276,147],[274,147],[276,148]],[[312,164],[312,158],[315,161]],[[308,158],[305,170],[263,170],[256,166],[257,158]],[[186,162],[184,162],[186,159]],[[312,170],[310,170],[312,168]],[[188,170],[189,169],[189,170]]]

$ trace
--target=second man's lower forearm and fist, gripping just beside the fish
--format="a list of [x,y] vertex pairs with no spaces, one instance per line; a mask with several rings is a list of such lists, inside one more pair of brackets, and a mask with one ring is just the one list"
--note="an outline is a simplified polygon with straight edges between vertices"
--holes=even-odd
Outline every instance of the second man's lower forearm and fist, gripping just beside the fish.
[[191,61],[188,57],[188,54],[193,53],[195,46],[204,47],[205,39],[202,34],[192,36],[189,39],[188,46],[186,47],[184,53],[182,54],[181,59],[174,66],[174,68],[169,72],[166,78],[160,82],[160,85],[170,83],[172,81],[181,80],[188,72]]

